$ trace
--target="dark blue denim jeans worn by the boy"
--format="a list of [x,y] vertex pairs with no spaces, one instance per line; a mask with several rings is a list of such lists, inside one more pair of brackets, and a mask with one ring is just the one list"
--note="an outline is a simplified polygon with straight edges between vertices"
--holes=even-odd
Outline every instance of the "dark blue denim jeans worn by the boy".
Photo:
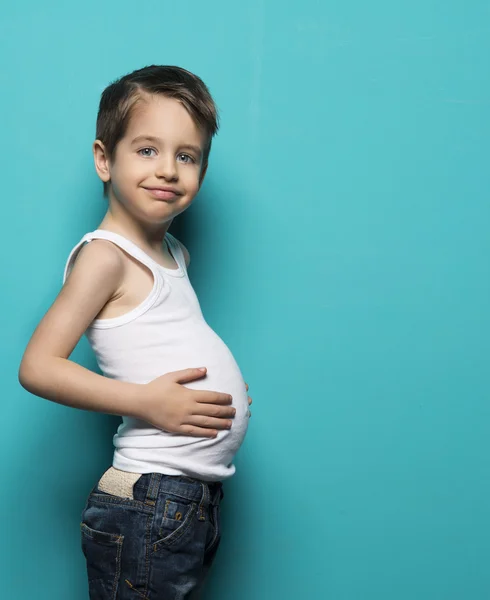
[[90,600],[194,600],[221,539],[221,482],[145,473],[132,498],[95,485],[81,517]]

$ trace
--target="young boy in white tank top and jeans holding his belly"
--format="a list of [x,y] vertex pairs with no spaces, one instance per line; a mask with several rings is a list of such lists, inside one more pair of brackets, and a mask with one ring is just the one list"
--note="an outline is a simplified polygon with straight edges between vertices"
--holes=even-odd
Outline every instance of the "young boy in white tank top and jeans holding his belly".
[[[220,543],[251,398],[168,233],[217,129],[207,87],[184,69],[145,67],[104,90],[93,154],[108,210],[70,253],[20,365],[33,394],[122,416],[80,524],[92,600],[198,597]],[[69,360],[84,333],[103,375]]]

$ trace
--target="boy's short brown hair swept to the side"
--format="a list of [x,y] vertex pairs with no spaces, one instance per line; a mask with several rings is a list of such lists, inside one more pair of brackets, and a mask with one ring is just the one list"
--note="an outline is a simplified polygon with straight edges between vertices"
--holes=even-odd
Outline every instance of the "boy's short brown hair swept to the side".
[[[151,65],[137,69],[117,79],[102,92],[97,114],[96,139],[113,160],[118,142],[124,137],[132,112],[145,94],[162,94],[175,98],[205,131],[207,142],[203,152],[202,167],[208,162],[211,142],[219,128],[218,109],[204,82],[190,71],[180,67]],[[104,182],[104,196],[108,183]]]

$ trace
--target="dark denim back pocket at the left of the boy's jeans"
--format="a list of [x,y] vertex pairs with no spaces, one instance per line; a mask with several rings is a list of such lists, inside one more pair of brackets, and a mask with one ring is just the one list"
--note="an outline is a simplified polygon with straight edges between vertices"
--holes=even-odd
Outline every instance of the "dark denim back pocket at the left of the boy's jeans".
[[97,531],[80,523],[87,561],[90,600],[115,600],[121,574],[123,535]]

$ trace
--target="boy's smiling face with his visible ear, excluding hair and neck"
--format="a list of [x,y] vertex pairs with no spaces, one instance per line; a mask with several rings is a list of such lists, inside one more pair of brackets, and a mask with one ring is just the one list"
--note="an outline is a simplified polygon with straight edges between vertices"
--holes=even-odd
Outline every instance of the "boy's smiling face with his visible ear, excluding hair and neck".
[[205,143],[205,133],[179,101],[145,96],[135,105],[112,161],[101,142],[94,143],[97,173],[110,181],[111,208],[119,205],[148,225],[171,221],[199,191]]

